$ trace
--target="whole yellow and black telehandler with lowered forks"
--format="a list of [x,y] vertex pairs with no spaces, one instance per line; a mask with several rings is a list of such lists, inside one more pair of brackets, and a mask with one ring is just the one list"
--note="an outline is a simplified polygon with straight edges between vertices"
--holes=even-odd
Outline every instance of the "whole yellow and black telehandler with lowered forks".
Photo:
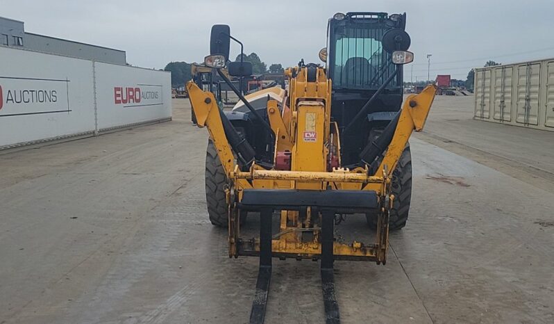
[[[218,70],[242,107],[224,112],[212,93],[192,82],[187,89],[198,126],[210,133],[210,220],[228,226],[230,257],[260,257],[251,323],[264,320],[272,257],[321,260],[327,323],[339,322],[333,261],[387,261],[389,229],[404,227],[410,208],[408,138],[423,128],[436,90],[430,85],[402,104],[402,65],[413,60],[404,29],[405,14],[337,13],[320,51],[325,66],[301,60],[285,71],[287,89],[245,98],[221,69],[248,76],[251,65],[229,63],[230,40],[239,41],[228,26],[212,26],[205,65]],[[240,236],[249,211],[260,215],[258,238]],[[335,237],[335,222],[355,214],[376,230],[375,242]]]

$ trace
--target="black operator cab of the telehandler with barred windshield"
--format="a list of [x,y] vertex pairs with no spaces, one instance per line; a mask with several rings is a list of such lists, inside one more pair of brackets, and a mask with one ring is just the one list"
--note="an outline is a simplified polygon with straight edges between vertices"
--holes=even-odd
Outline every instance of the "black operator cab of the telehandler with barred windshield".
[[[337,13],[328,21],[319,56],[333,81],[331,118],[339,124],[346,165],[360,159],[401,108],[402,64],[413,59],[405,24],[405,13]],[[398,62],[398,53],[411,57]]]

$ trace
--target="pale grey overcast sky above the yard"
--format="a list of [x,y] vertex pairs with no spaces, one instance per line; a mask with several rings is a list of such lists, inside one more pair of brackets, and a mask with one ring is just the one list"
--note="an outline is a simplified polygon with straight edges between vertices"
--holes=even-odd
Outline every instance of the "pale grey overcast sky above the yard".
[[[244,51],[269,66],[317,62],[334,13],[385,11],[408,15],[412,66],[405,79],[452,74],[465,79],[487,59],[501,63],[554,57],[554,1],[492,0],[0,0],[0,15],[25,22],[31,33],[122,49],[127,61],[163,68],[170,61],[200,62],[212,24],[229,24]],[[231,56],[239,48],[231,48]]]

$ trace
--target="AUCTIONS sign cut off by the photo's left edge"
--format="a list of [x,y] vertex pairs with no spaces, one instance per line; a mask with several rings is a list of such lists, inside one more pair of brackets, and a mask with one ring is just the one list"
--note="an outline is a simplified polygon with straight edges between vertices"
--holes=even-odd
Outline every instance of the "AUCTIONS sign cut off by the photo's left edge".
[[69,82],[0,76],[0,116],[69,112]]

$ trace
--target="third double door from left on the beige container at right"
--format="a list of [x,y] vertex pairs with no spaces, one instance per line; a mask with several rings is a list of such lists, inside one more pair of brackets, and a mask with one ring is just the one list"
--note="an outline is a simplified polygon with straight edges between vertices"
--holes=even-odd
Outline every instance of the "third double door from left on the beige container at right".
[[517,116],[520,124],[539,124],[540,63],[517,67]]

